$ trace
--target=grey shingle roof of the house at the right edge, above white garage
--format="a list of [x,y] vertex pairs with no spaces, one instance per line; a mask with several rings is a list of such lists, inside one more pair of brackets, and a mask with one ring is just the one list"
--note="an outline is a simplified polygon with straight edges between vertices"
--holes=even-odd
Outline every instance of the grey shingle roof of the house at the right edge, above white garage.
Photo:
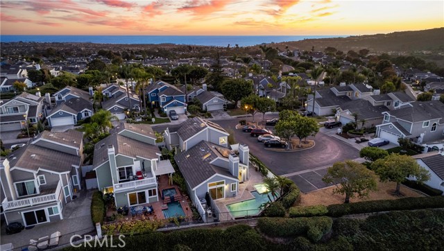
[[444,118],[444,104],[440,101],[416,101],[410,103],[410,105],[388,113],[397,119],[403,119],[409,122]]

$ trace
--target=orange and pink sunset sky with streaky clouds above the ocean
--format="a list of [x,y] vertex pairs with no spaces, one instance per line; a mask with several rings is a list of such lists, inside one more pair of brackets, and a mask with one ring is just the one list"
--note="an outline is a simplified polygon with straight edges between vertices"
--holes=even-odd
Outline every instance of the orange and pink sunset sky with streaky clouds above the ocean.
[[444,26],[444,1],[12,0],[1,35],[364,35]]

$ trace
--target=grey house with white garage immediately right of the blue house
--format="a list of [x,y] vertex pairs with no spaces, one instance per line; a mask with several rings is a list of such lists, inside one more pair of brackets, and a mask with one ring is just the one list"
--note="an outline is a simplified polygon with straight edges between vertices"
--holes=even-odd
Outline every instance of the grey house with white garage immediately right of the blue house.
[[[180,91],[185,92],[185,86],[180,87]],[[192,101],[194,98],[197,98],[202,104],[200,109],[207,112],[223,110],[223,105],[226,103],[225,99],[208,92],[207,84],[203,84],[202,88],[194,86],[187,92],[188,101]]]

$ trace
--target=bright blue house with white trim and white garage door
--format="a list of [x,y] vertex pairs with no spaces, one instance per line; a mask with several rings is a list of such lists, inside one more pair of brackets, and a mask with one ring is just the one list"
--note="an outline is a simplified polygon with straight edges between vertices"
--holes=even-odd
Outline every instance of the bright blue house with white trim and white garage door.
[[174,85],[159,80],[149,85],[146,93],[151,107],[159,107],[165,113],[175,110],[183,114],[187,111],[185,94]]

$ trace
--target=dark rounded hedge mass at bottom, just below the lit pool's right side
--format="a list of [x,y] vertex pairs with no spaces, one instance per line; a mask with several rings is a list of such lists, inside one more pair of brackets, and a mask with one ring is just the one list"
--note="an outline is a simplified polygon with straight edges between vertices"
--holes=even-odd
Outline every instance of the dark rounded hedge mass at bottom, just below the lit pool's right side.
[[257,227],[268,235],[275,237],[307,236],[317,242],[330,232],[333,220],[327,216],[311,218],[259,218]]

